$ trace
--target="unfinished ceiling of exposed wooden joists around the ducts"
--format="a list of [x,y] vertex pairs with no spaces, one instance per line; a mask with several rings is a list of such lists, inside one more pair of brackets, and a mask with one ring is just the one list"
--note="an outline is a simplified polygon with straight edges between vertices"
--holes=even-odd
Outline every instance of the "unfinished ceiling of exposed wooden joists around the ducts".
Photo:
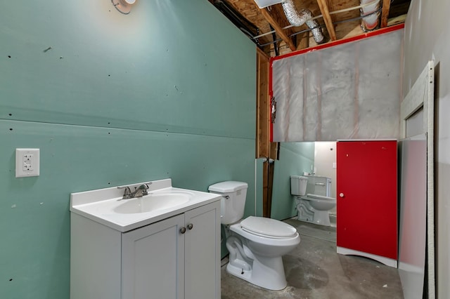
[[[219,4],[232,8],[228,10],[233,11],[232,15],[227,17],[268,55],[283,55],[317,45],[307,25],[289,26],[282,4],[260,9],[254,0],[207,1],[218,9]],[[378,19],[379,27],[375,30],[404,22],[410,2],[411,0],[380,0],[382,8]],[[329,41],[364,34],[360,20],[361,0],[293,0],[293,4],[299,12],[303,9],[311,11],[323,33],[330,37]]]

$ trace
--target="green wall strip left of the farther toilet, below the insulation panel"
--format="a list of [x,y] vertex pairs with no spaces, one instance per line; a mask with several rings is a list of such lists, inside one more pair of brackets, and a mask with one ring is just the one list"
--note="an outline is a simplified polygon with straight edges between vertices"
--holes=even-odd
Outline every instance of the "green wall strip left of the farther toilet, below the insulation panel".
[[290,194],[290,175],[311,172],[314,142],[281,142],[280,159],[275,161],[271,218],[284,220],[297,215],[295,199]]

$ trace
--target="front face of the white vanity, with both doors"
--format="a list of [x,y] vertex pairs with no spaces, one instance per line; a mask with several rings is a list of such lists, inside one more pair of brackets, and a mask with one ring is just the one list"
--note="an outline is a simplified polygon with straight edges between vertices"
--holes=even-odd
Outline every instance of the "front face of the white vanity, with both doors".
[[220,298],[219,222],[216,201],[122,234],[122,298]]

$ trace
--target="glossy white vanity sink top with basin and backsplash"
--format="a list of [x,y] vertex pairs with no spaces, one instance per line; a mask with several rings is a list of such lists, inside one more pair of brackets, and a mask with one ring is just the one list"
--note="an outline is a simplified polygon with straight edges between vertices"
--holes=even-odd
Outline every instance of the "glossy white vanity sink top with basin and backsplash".
[[[130,184],[131,190],[147,182]],[[70,194],[70,211],[120,232],[184,213],[221,199],[219,194],[172,187],[172,180],[154,180],[148,195],[122,199],[124,190],[110,187]]]

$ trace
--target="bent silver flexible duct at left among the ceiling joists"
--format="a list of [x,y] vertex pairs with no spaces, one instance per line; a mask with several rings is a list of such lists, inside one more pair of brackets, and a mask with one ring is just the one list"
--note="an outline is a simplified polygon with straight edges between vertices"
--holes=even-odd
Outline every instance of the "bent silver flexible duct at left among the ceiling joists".
[[323,44],[326,41],[319,22],[317,22],[316,20],[311,20],[311,11],[309,11],[308,9],[302,9],[300,12],[297,11],[293,0],[283,0],[283,2],[281,2],[281,5],[283,6],[283,11],[286,15],[286,18],[291,25],[298,27],[306,23],[307,26],[311,29],[312,36],[317,44]]

